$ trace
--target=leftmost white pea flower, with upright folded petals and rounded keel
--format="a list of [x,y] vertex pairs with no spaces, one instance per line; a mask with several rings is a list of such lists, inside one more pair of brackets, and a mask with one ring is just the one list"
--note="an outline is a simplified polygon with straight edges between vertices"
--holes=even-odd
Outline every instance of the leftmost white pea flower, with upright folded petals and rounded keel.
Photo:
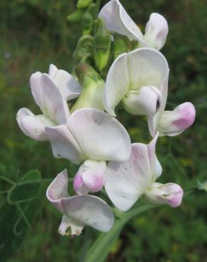
[[43,115],[34,115],[28,108],[17,113],[18,125],[25,135],[38,141],[47,140],[45,126],[64,124],[69,118],[67,101],[79,96],[81,86],[69,73],[50,64],[49,74],[36,72],[30,77],[35,103]]

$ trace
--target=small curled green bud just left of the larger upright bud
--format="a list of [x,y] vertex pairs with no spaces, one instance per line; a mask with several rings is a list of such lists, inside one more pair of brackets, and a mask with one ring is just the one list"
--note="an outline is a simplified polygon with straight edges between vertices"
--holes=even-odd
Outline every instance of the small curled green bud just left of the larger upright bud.
[[94,38],[91,35],[84,35],[79,39],[73,58],[75,63],[79,63],[83,57],[92,54]]

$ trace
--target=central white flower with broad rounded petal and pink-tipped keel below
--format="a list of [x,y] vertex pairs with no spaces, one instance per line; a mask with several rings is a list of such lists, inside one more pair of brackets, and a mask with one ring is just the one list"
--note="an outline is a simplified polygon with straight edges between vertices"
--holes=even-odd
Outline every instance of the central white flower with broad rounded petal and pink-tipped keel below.
[[80,166],[74,178],[79,194],[97,192],[106,181],[106,161],[126,161],[130,156],[130,137],[123,125],[107,113],[94,108],[74,111],[67,125],[45,127],[57,158]]

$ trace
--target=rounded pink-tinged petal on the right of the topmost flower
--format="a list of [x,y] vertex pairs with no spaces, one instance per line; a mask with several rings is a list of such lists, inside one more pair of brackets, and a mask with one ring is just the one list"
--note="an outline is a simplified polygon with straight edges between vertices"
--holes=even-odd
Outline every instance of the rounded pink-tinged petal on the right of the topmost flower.
[[168,25],[166,19],[159,13],[151,13],[145,28],[145,41],[151,47],[160,50],[167,39]]

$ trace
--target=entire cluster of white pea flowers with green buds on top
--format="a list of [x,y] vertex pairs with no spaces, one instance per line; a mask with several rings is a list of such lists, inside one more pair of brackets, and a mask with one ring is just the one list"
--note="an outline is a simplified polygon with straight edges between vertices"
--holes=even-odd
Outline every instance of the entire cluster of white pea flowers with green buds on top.
[[[91,18],[95,16],[91,1],[79,1],[78,7],[81,13],[86,8]],[[49,141],[56,158],[80,164],[73,182],[77,195],[68,194],[67,170],[47,188],[47,199],[63,215],[62,235],[79,235],[84,225],[101,232],[111,229],[111,207],[94,195],[104,188],[113,205],[124,212],[140,198],[178,207],[182,188],[156,182],[162,166],[155,147],[158,137],[179,135],[195,119],[189,102],[164,110],[169,66],[158,51],[168,33],[163,16],[152,13],[143,35],[121,3],[111,0],[93,19],[94,29],[86,24],[77,43],[72,75],[50,64],[48,74],[36,72],[30,77],[35,103],[43,114],[34,115],[28,108],[17,113],[25,135]],[[71,108],[67,101],[73,103]],[[116,119],[117,107],[146,116],[149,144],[131,144]]]

